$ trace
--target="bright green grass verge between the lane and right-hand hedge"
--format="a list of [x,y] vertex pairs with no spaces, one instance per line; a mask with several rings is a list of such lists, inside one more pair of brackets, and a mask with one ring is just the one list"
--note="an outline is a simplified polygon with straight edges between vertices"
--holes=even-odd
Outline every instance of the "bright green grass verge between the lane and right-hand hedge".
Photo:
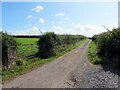
[[102,63],[101,57],[97,54],[97,46],[93,41],[91,41],[89,44],[88,59],[93,64]]

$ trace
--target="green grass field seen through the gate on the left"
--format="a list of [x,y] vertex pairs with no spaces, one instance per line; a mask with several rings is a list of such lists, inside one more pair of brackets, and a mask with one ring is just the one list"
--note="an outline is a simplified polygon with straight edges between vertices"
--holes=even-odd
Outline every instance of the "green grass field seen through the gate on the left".
[[25,58],[38,52],[37,41],[39,40],[39,38],[15,38],[15,39],[19,43],[19,45],[17,46],[17,58]]

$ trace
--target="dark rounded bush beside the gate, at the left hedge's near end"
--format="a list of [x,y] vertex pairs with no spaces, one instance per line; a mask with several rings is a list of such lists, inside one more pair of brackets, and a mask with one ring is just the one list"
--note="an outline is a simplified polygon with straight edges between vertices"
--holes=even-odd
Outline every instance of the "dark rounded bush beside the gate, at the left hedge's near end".
[[58,36],[53,32],[47,32],[40,36],[38,41],[39,56],[41,58],[48,58],[49,56],[55,55],[55,46],[58,45],[58,41]]

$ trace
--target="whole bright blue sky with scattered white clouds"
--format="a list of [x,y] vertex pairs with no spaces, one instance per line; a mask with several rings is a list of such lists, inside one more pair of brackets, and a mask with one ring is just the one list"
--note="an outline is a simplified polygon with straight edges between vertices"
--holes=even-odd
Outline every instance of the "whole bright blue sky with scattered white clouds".
[[[1,10],[1,9],[0,9]],[[1,17],[1,16],[0,16]],[[3,2],[0,28],[16,35],[93,36],[118,26],[117,2]]]

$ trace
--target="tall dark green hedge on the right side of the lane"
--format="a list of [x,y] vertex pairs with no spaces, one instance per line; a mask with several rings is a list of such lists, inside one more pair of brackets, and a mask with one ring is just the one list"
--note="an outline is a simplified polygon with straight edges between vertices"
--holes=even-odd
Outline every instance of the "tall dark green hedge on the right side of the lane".
[[[98,35],[94,35],[92,39],[95,42],[97,48],[95,56],[100,57],[94,59],[94,63],[101,63],[105,65],[119,67],[120,28],[112,29],[112,31],[107,31]],[[98,59],[100,60],[100,62],[97,61]]]

